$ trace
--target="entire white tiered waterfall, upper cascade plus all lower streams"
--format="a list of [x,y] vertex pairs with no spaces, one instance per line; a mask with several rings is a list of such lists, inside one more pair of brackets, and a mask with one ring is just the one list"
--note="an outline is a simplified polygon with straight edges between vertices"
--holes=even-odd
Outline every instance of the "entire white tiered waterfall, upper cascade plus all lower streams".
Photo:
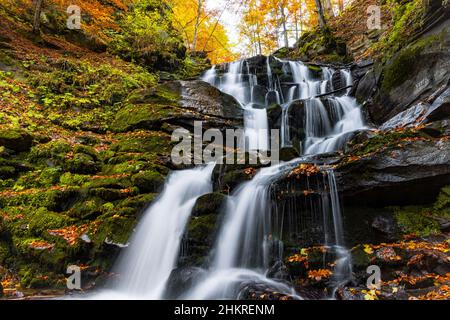
[[[228,198],[225,217],[211,250],[212,262],[200,279],[178,298],[236,299],[241,297],[245,284],[264,284],[273,291],[300,298],[285,282],[269,279],[268,269],[283,257],[283,230],[289,223],[274,222],[271,187],[283,174],[299,163],[308,161],[307,155],[336,151],[349,136],[364,129],[364,121],[356,100],[349,89],[338,94],[333,87],[336,73],[343,79],[343,88],[352,85],[348,70],[322,67],[319,71],[302,62],[274,61],[282,65],[285,78],[272,71],[270,57],[266,60],[267,79],[251,70],[245,60],[228,65],[221,74],[216,67],[207,71],[203,80],[232,95],[244,112],[246,144],[249,150],[268,149],[268,118],[266,108],[277,103],[282,107],[281,137],[283,146],[291,146],[290,113],[293,102],[304,103],[305,138],[297,146],[304,157],[261,169],[253,180],[238,187]],[[263,81],[264,80],[264,81]],[[264,84],[263,84],[264,83]],[[323,95],[327,95],[323,97]],[[191,210],[201,195],[212,192],[213,165],[173,173],[165,189],[144,214],[130,248],[122,256],[118,271],[122,275],[116,292],[127,298],[159,299],[164,296],[166,283],[176,267],[180,244]],[[322,200],[323,244],[334,250],[337,261],[333,281],[335,288],[351,278],[350,255],[345,249],[343,223],[334,172],[323,169]],[[330,223],[326,221],[331,219]]]

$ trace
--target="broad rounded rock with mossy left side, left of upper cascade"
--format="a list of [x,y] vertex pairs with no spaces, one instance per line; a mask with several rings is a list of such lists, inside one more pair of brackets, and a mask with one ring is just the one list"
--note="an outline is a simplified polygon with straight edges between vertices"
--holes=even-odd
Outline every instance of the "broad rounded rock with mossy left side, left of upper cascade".
[[[193,131],[201,121],[203,130],[243,127],[243,110],[233,97],[203,81],[173,81],[157,88],[133,93],[116,115],[115,130],[172,131],[183,127]],[[165,125],[165,128],[163,128]]]

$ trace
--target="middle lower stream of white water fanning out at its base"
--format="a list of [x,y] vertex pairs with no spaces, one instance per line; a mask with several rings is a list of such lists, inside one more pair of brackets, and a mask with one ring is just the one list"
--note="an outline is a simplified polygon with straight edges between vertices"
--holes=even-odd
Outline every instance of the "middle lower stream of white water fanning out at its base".
[[236,299],[242,284],[248,282],[263,283],[273,291],[300,298],[290,286],[264,275],[274,253],[281,259],[279,242],[271,239],[269,188],[286,167],[262,169],[228,199],[211,268],[183,298]]

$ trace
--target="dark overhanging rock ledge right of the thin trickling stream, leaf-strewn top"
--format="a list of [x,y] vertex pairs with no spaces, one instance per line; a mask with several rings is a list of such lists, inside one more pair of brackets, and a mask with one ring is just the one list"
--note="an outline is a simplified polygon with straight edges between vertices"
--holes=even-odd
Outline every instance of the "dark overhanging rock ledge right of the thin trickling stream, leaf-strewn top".
[[340,190],[353,204],[387,206],[432,202],[450,183],[448,139],[408,143],[337,170]]

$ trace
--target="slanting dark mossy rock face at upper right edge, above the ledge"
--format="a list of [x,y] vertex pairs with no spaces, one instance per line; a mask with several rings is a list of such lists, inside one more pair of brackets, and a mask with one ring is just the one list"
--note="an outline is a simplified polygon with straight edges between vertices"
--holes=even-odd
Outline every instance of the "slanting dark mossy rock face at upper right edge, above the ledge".
[[372,100],[368,104],[370,117],[381,124],[446,85],[449,60],[450,22],[446,20],[388,61],[379,83],[375,69],[369,71],[356,96],[360,102]]

